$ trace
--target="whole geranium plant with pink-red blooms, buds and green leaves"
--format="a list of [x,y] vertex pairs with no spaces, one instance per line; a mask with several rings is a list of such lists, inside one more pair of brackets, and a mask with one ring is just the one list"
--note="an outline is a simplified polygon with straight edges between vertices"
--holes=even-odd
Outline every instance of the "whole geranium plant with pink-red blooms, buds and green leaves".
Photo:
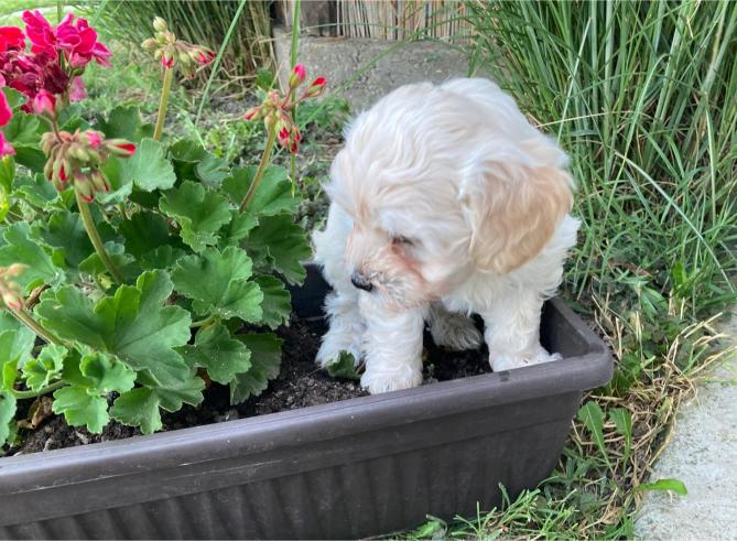
[[163,75],[156,125],[134,107],[88,120],[82,77],[110,51],[72,14],[23,21],[0,28],[0,445],[29,424],[19,400],[52,400],[90,432],[115,419],[151,433],[161,409],[199,404],[213,381],[232,403],[262,392],[279,372],[270,331],[291,311],[285,282],[304,279],[310,256],[270,154],[275,141],[297,151],[290,110],[325,80],[290,98],[296,66],[283,95],[247,111],[264,121],[265,150],[231,167],[164,133],[176,73],[207,68],[209,50],[156,19],[143,43]]

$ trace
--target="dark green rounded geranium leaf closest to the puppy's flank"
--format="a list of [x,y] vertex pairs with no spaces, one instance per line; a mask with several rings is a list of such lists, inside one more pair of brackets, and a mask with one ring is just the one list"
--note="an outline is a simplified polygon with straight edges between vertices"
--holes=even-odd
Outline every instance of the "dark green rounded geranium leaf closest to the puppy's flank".
[[259,269],[269,272],[273,267],[289,283],[304,281],[302,261],[312,255],[304,230],[285,214],[259,218],[259,226],[246,240],[246,250]]

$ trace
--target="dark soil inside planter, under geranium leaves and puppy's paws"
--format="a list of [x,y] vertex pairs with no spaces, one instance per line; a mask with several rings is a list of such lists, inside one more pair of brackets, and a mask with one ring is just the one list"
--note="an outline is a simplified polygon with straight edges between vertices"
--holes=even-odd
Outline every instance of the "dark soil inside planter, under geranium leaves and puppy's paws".
[[[314,359],[323,332],[322,324],[302,321],[281,327],[278,331],[284,340],[281,374],[260,397],[230,405],[228,388],[214,383],[205,391],[205,400],[198,408],[185,405],[176,413],[163,412],[164,430],[264,415],[365,396],[366,391],[360,389],[357,381],[333,379],[324,370],[316,368]],[[436,347],[426,334],[424,383],[489,372],[491,369],[487,359],[486,346],[478,350],[446,351]],[[31,404],[32,400],[21,402],[20,413],[25,413]],[[63,416],[52,414],[35,430],[21,430],[21,444],[0,456],[74,447],[139,434],[138,429],[117,422],[110,422],[102,434],[90,434],[84,428],[69,426]]]

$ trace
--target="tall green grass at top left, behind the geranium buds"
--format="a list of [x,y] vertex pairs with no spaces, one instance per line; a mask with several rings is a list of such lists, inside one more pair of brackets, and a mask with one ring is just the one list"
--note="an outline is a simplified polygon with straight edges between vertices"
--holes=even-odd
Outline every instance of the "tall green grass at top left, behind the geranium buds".
[[269,2],[246,0],[245,9],[239,10],[240,4],[239,1],[102,0],[83,6],[99,15],[98,24],[107,34],[136,46],[151,36],[151,23],[156,15],[165,19],[183,40],[215,52],[225,43],[220,78],[245,83],[259,67],[270,66],[273,54]]

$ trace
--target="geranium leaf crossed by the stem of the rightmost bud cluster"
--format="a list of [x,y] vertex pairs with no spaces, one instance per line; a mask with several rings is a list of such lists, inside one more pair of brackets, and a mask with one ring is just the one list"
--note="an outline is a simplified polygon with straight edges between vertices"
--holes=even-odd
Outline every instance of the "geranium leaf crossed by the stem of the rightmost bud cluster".
[[[236,205],[240,205],[246,197],[257,169],[253,165],[236,167],[231,176],[223,182],[223,190]],[[286,170],[272,165],[264,171],[261,184],[248,204],[247,212],[256,216],[274,216],[281,213],[294,213],[299,206],[300,198],[292,196],[292,183],[289,182]]]

